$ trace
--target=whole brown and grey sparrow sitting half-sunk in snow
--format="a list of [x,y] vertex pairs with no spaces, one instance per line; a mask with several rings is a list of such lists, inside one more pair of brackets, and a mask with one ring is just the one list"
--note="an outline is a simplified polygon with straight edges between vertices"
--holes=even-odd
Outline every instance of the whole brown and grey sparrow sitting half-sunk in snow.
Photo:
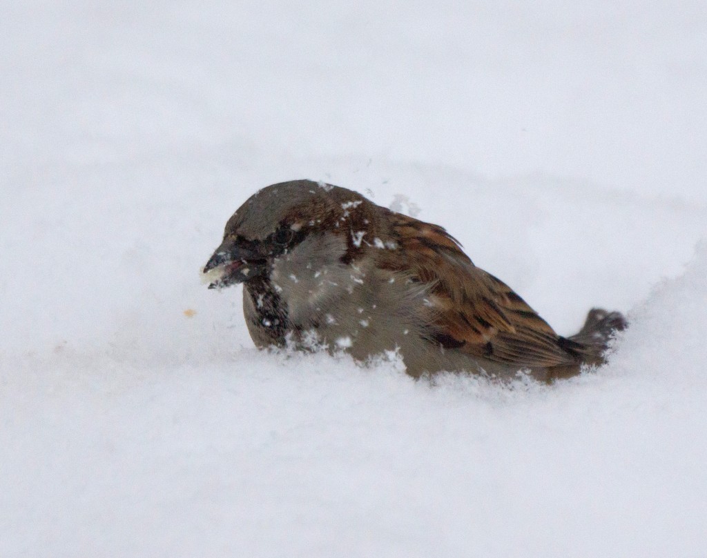
[[258,347],[316,343],[363,361],[397,350],[415,377],[525,369],[551,381],[604,362],[612,332],[626,326],[618,312],[592,309],[579,333],[559,336],[442,227],[309,180],[248,198],[204,273],[209,288],[243,283]]

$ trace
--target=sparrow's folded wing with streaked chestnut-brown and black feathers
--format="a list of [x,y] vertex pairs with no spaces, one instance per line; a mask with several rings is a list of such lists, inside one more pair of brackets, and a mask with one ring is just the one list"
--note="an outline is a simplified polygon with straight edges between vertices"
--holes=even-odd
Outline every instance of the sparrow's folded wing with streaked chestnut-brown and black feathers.
[[558,336],[508,285],[474,266],[442,227],[398,213],[391,218],[398,254],[381,254],[383,265],[432,285],[428,295],[433,310],[431,340],[444,348],[519,367],[580,360],[576,352],[580,344]]

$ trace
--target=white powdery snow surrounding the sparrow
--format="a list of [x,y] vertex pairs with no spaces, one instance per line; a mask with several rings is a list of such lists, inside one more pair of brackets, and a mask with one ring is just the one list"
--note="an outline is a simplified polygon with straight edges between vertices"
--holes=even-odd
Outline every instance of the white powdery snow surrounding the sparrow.
[[[707,556],[703,1],[1,6],[1,557]],[[553,386],[258,352],[199,269],[303,177],[631,326]]]

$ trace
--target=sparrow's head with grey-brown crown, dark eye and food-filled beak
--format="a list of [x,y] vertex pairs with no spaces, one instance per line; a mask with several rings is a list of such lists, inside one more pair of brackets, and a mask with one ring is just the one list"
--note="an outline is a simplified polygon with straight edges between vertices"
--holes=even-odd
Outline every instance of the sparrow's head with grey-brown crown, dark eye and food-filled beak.
[[223,242],[204,266],[209,288],[263,278],[275,259],[312,234],[345,235],[350,244],[351,227],[363,222],[358,206],[365,202],[354,191],[310,180],[257,191],[228,220]]

